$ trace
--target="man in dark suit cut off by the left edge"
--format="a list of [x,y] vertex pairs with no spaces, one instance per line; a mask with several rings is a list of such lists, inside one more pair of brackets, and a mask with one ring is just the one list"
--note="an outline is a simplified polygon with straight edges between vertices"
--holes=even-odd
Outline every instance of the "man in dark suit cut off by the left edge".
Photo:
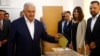
[[10,32],[10,22],[4,20],[4,10],[0,10],[0,56],[7,56],[7,38]]

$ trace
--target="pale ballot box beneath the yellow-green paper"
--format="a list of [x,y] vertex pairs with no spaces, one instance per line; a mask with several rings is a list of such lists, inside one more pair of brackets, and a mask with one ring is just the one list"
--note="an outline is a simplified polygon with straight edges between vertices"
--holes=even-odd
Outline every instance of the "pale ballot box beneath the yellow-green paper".
[[44,56],[83,56],[69,48],[52,48],[53,52],[45,52]]

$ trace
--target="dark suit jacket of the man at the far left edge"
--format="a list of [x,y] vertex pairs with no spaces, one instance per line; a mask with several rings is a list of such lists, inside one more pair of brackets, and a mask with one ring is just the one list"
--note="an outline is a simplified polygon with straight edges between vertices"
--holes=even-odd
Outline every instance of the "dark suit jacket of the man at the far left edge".
[[10,22],[8,20],[3,20],[3,27],[0,30],[0,40],[8,38],[8,34],[10,32]]

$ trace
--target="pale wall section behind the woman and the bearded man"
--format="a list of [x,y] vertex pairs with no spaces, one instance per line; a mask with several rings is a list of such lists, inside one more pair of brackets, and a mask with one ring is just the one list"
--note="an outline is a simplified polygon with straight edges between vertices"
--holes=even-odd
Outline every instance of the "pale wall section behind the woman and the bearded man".
[[[91,1],[94,1],[94,0],[74,0],[73,1],[73,8],[76,7],[76,6],[81,6],[82,9],[83,9],[83,12],[84,12],[84,19],[88,19],[89,17],[91,17],[90,15],[90,3]],[[100,0],[97,0],[100,2]]]

